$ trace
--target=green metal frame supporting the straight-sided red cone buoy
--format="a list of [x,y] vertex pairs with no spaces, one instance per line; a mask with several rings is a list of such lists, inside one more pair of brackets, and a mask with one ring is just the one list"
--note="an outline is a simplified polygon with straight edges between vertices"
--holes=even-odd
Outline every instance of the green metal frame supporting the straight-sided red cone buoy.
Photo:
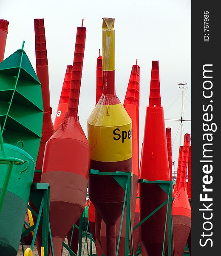
[[[161,189],[164,190],[164,192],[167,194],[167,200],[162,203],[159,207],[157,207],[153,212],[151,212],[149,215],[147,215],[146,218],[144,218],[139,224],[137,224],[133,230],[136,230],[140,225],[144,223],[148,218],[150,218],[154,213],[156,213],[161,207],[163,207],[165,204],[167,204],[167,212],[165,217],[165,227],[164,227],[164,242],[163,242],[163,248],[162,248],[162,256],[164,255],[164,243],[165,243],[165,237],[166,237],[166,227],[167,227],[167,216],[169,215],[169,232],[168,232],[168,256],[171,256],[171,242],[173,242],[173,221],[172,221],[172,191],[173,191],[173,184],[175,184],[175,181],[173,180],[156,180],[156,181],[150,181],[145,179],[139,179],[139,183],[155,183],[158,184]],[[173,243],[173,251],[174,251],[174,243]]]

